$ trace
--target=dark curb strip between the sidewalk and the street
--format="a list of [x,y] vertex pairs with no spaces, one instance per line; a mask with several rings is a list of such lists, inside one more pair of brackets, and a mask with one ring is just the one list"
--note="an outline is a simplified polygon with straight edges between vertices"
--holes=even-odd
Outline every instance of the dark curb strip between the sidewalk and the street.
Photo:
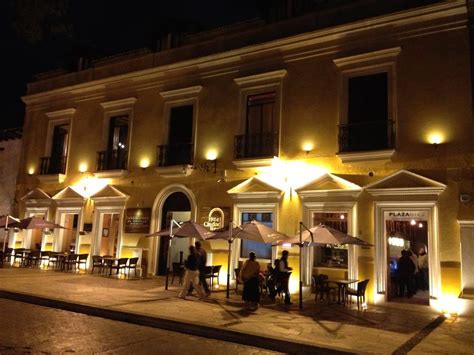
[[242,333],[238,331],[216,328],[207,325],[182,322],[174,319],[150,317],[142,314],[100,308],[86,304],[45,298],[19,292],[0,290],[0,298],[31,303],[49,308],[62,309],[65,311],[82,313],[89,316],[101,317],[120,322],[143,325],[152,328],[159,328],[205,338],[223,340],[242,345],[254,346],[288,354],[353,354],[352,352],[345,351],[342,349],[320,347],[309,343],[296,343],[269,336]]

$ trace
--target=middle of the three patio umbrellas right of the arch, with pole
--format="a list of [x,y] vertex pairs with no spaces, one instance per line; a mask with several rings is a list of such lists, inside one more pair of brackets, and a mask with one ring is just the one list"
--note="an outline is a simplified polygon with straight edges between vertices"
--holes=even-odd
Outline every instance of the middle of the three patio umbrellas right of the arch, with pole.
[[[227,255],[227,290],[226,297],[229,298],[229,284],[230,284],[230,255],[232,252],[232,243],[238,239],[253,240],[265,244],[275,245],[279,241],[287,240],[289,237],[281,232],[278,232],[265,224],[257,221],[251,221],[240,226],[235,226],[232,222],[229,223],[227,230],[215,233],[209,239],[225,239],[229,243],[229,250]],[[235,226],[235,227],[234,227]]]

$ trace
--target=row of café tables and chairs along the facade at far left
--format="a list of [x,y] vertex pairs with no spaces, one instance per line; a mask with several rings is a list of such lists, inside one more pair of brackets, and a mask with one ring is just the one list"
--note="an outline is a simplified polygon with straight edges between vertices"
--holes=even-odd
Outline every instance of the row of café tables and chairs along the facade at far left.
[[[0,265],[13,267],[37,267],[63,272],[87,272],[89,254],[6,248],[0,251]],[[130,278],[141,276],[137,272],[139,258],[115,258],[112,255],[93,255],[90,259],[90,273],[107,277]]]

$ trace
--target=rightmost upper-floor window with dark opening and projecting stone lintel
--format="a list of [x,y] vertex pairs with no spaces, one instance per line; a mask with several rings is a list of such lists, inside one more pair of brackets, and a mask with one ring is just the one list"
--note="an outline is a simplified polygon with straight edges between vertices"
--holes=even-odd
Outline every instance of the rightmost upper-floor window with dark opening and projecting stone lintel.
[[342,78],[339,153],[393,152],[399,53],[400,48],[391,48],[334,60]]

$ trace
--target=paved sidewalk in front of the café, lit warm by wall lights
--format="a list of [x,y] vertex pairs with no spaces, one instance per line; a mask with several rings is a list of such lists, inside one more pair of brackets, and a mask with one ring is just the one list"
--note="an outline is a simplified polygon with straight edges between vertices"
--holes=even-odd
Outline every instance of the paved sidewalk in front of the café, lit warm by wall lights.
[[233,292],[226,300],[224,288],[206,301],[196,297],[182,300],[176,297],[177,282],[168,291],[163,283],[163,278],[123,280],[51,270],[0,269],[1,297],[272,350],[287,351],[291,343],[297,343],[300,347],[294,349],[298,351],[325,353],[474,352],[473,318],[443,321],[423,306],[407,311],[369,305],[368,310],[358,312],[354,307],[315,304],[311,298],[305,301],[303,311],[296,302],[290,307],[263,302],[258,310],[249,311]]

